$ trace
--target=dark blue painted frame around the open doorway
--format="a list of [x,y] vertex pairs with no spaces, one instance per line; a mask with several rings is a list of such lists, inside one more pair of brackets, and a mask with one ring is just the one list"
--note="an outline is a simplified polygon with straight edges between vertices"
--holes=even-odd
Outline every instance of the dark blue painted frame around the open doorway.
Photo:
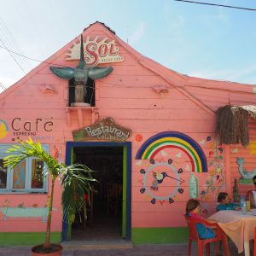
[[[127,186],[126,186],[126,239],[131,240],[131,142],[110,143],[110,142],[67,142],[66,143],[66,159],[67,166],[71,164],[71,152],[75,147],[127,147]],[[68,224],[67,219],[62,220],[61,240],[68,240]]]

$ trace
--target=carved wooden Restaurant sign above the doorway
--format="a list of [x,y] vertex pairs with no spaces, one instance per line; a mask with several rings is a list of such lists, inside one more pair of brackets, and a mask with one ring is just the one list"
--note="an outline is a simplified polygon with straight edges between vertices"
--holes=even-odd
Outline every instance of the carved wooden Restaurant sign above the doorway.
[[124,131],[121,131],[112,125],[105,125],[102,123],[99,123],[99,125],[100,127],[97,127],[96,129],[92,129],[90,126],[85,127],[84,131],[87,132],[87,136],[116,141],[125,141],[130,136],[129,131],[125,134]]

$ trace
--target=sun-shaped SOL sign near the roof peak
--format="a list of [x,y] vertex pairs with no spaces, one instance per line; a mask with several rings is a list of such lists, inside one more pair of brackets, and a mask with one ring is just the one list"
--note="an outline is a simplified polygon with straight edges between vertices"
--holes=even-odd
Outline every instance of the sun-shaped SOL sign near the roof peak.
[[[87,37],[84,40],[84,59],[87,67],[95,67],[100,63],[124,61],[124,57],[119,55],[119,48],[114,43],[114,40],[110,40],[108,43],[107,41],[108,38],[98,41],[98,37],[94,40],[90,40],[90,37]],[[80,41],[73,43],[73,47],[68,49],[66,60],[80,59],[80,45]]]

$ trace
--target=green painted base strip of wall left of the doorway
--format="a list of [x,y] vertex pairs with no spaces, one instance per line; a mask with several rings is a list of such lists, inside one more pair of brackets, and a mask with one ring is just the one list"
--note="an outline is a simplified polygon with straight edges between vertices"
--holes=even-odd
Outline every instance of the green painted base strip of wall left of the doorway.
[[[34,246],[44,243],[45,232],[3,232],[0,233],[0,246]],[[51,232],[50,241],[61,242],[61,232]]]

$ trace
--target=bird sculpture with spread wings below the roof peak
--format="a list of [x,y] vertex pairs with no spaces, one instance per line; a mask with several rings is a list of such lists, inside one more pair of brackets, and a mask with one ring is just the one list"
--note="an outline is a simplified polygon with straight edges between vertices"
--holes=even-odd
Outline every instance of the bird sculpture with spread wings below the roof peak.
[[82,35],[79,65],[76,68],[50,66],[49,69],[61,79],[75,80],[75,102],[84,102],[84,96],[86,96],[86,82],[88,78],[93,80],[102,79],[113,71],[113,67],[86,67]]

